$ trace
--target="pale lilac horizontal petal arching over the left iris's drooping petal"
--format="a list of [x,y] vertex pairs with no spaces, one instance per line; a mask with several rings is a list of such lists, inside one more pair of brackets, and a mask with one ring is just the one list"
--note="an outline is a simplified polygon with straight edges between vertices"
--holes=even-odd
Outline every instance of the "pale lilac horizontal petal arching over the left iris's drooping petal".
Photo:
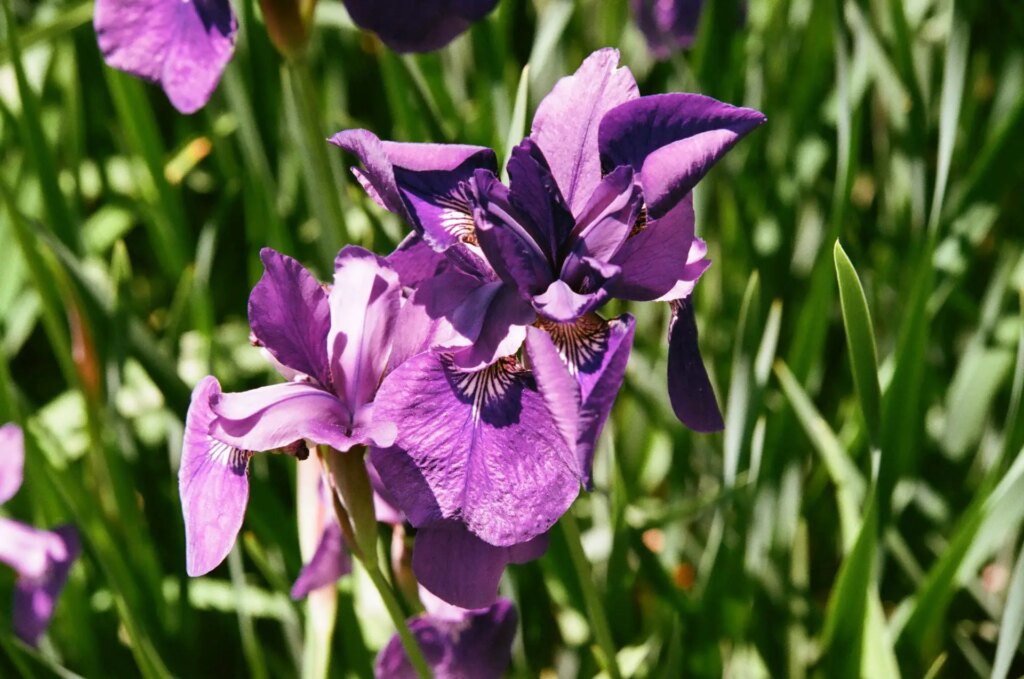
[[216,417],[210,434],[245,451],[272,451],[305,438],[347,451],[359,444],[389,445],[395,433],[393,424],[374,417],[373,404],[352,417],[333,393],[298,382],[221,393],[211,407]]

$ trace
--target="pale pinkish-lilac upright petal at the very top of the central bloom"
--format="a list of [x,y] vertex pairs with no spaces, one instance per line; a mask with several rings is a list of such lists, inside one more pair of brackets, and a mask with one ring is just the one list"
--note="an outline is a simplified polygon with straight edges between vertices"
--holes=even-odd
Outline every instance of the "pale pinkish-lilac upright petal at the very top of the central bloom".
[[555,83],[537,108],[530,136],[544,153],[572,214],[580,214],[601,181],[598,125],[604,115],[638,96],[618,50],[601,49]]

